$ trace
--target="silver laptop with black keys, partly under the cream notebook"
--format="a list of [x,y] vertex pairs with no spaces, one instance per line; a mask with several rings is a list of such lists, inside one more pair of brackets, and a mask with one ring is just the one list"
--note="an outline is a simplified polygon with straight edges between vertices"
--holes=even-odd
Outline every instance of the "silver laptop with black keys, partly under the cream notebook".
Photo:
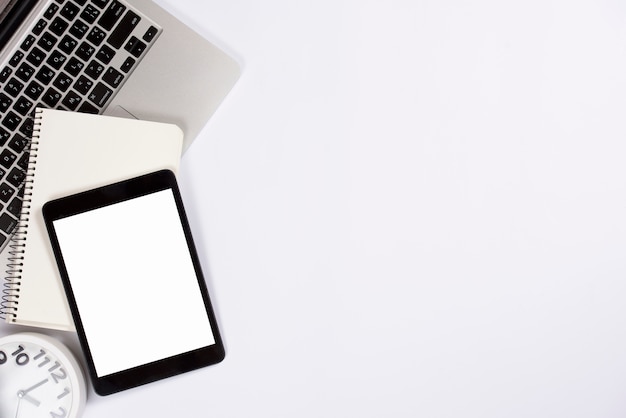
[[174,123],[184,151],[239,73],[152,0],[0,0],[0,250],[21,211],[35,107]]

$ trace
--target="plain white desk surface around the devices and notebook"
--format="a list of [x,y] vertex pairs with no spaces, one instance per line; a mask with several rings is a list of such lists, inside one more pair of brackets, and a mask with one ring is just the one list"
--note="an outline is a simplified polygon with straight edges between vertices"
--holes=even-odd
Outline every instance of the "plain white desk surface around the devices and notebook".
[[626,415],[623,2],[161,3],[243,67],[180,176],[227,357],[85,418]]

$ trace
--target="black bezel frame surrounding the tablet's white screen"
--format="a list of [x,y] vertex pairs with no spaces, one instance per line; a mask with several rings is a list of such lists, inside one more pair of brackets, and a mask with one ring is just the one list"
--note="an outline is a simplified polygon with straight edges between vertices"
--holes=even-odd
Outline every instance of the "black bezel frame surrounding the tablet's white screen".
[[[186,353],[180,353],[172,357],[157,360],[114,374],[98,377],[89,348],[89,341],[87,340],[87,336],[83,328],[80,312],[76,304],[76,299],[74,298],[72,284],[67,274],[63,253],[59,245],[53,222],[58,219],[167,189],[172,190],[174,200],[176,201],[179,219],[185,234],[196,278],[198,279],[199,289],[209,318],[215,344]],[[47,202],[43,206],[43,217],[48,230],[48,235],[50,236],[50,242],[57,266],[59,268],[63,287],[67,295],[67,300],[74,319],[78,338],[85,354],[89,375],[96,393],[99,395],[109,395],[146,383],[154,382],[156,380],[161,380],[201,367],[216,364],[224,359],[224,346],[217,327],[217,321],[213,313],[211,301],[209,299],[208,289],[204,281],[198,254],[191,236],[189,222],[187,221],[176,177],[172,171],[161,170]],[[164,314],[168,315],[169,313],[165,312]]]

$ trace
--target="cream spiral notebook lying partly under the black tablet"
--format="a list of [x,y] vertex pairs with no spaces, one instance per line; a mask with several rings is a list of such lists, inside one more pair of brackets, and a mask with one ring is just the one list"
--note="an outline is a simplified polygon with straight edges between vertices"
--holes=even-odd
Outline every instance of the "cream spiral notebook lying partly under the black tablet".
[[44,203],[159,169],[176,173],[182,143],[176,125],[36,111],[22,215],[5,250],[11,260],[2,302],[7,322],[74,330],[44,225]]

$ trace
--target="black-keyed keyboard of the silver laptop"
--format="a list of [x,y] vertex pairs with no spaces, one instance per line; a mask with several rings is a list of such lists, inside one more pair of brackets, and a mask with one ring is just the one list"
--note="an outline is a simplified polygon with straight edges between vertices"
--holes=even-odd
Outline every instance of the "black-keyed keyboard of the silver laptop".
[[35,108],[102,113],[160,31],[121,0],[54,0],[0,62],[0,250],[22,207]]

